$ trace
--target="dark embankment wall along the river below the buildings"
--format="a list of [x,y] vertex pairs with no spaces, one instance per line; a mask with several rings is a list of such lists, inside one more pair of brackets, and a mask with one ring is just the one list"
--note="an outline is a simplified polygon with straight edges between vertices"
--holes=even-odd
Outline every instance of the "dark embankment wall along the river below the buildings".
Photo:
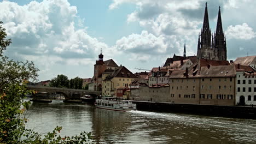
[[132,101],[137,104],[137,110],[154,112],[186,113],[203,116],[232,117],[256,119],[256,107],[223,106],[223,105],[196,105],[156,103],[150,101]]

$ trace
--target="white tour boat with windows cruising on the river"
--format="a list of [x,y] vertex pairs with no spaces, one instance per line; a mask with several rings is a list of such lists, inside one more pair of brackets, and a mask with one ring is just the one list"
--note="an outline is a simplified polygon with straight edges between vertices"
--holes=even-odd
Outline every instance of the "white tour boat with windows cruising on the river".
[[95,105],[99,109],[114,111],[136,110],[136,104],[132,104],[129,100],[121,100],[117,97],[102,97],[101,99],[96,99]]

